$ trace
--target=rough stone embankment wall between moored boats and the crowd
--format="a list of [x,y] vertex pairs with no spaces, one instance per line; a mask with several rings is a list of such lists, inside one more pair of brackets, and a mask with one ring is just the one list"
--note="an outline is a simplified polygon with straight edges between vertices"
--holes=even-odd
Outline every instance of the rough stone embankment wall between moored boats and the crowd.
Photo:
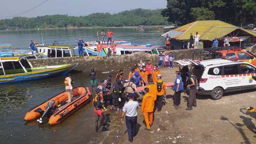
[[[192,51],[190,50],[173,50],[172,53],[175,56],[175,60],[183,58],[192,58]],[[38,66],[52,66],[59,64],[75,64],[78,66],[75,70],[82,70],[83,72],[89,72],[91,68],[95,68],[96,71],[106,70],[128,70],[138,64],[140,59],[151,60],[152,64],[157,64],[159,57],[156,54],[146,54],[145,52],[135,52],[134,54],[124,54],[119,57],[109,57],[105,59],[96,59],[88,57],[65,57],[65,58],[39,58],[29,60],[34,67]]]

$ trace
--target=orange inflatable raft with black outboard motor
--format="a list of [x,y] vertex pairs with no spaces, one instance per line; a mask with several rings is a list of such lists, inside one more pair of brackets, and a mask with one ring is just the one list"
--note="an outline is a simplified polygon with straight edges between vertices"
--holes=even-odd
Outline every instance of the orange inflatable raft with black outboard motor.
[[62,92],[32,108],[27,112],[24,120],[30,121],[40,118],[37,121],[42,123],[42,118],[46,115],[49,118],[48,124],[59,124],[90,101],[91,93],[88,87],[76,87],[73,88],[73,92],[72,102],[66,102],[68,100],[68,94],[66,91]]

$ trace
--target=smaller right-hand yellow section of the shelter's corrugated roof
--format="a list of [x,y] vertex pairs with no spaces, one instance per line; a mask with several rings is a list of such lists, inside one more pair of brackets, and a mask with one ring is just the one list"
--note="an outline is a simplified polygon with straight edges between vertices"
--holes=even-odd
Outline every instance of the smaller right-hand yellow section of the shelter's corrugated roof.
[[214,38],[221,38],[234,30],[236,30],[236,28],[212,27],[201,35],[201,40],[214,40]]

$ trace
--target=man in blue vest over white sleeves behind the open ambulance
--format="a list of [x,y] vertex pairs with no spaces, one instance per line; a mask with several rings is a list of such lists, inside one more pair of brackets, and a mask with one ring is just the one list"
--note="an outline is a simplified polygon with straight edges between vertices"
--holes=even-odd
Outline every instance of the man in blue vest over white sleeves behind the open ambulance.
[[180,76],[180,72],[176,71],[175,72],[176,80],[174,82],[174,97],[173,97],[173,105],[178,106],[180,105],[180,94],[183,90],[183,83],[182,83],[182,78]]

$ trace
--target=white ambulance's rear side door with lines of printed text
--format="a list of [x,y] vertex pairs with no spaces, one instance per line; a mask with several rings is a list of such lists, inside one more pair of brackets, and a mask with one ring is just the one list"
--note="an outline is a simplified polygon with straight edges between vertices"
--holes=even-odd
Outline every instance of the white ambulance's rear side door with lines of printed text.
[[241,77],[239,77],[239,64],[228,64],[223,66],[222,86],[225,91],[241,89]]

